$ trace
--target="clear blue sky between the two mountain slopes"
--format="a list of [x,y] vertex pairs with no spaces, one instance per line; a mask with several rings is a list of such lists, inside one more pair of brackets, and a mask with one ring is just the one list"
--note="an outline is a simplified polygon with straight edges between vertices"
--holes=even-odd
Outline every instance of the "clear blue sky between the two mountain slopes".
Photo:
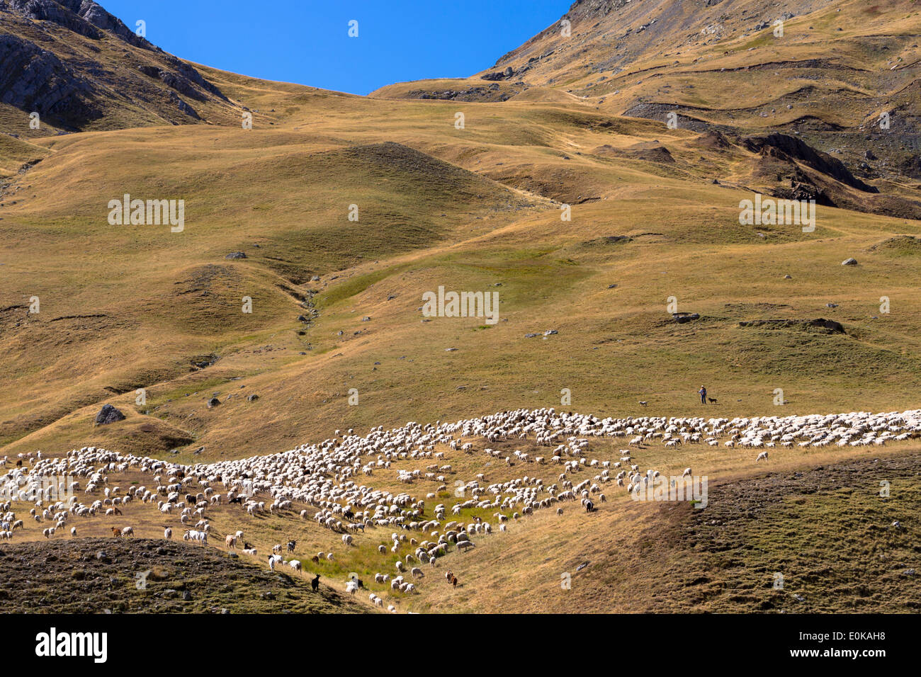
[[[367,94],[470,76],[562,17],[571,0],[98,0],[147,40],[247,76]],[[348,22],[358,21],[358,37]]]

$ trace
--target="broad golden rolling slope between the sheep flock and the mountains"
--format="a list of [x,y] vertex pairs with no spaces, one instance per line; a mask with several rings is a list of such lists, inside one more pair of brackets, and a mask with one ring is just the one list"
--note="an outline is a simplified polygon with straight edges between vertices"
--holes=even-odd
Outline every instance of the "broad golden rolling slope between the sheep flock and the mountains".
[[[742,226],[754,154],[581,104],[469,103],[458,129],[453,102],[273,86],[239,79],[284,113],[251,131],[40,140],[0,221],[5,452],[242,455],[564,389],[682,414],[701,381],[721,415],[915,402],[921,259],[892,240],[915,221],[819,206],[814,233]],[[124,193],[184,200],[184,230],[111,226]],[[499,321],[423,321],[438,286],[497,293]],[[671,297],[702,319],[675,324]],[[817,318],[845,333],[740,326]],[[105,402],[128,419],[93,428]]]

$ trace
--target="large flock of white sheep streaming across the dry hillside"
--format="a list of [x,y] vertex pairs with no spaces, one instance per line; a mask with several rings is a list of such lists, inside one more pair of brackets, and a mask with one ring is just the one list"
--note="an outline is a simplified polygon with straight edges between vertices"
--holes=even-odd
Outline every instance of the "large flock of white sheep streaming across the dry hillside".
[[[479,514],[484,509],[491,511],[489,514],[495,517],[499,531],[506,531],[508,519],[520,519],[541,508],[555,506],[556,513],[562,514],[563,508],[558,505],[562,502],[581,500],[582,506],[591,512],[595,501],[606,500],[605,485],[624,487],[629,492],[659,475],[652,469],[641,473],[632,460],[632,448],[653,443],[667,448],[722,443],[727,447],[758,449],[760,453],[755,460],[766,461],[768,449],[775,447],[831,444],[857,447],[919,436],[921,410],[705,419],[598,418],[550,408],[502,412],[449,424],[422,426],[410,422],[391,430],[378,426],[365,436],[352,430],[345,434],[337,430],[334,438],[283,453],[193,465],[96,447],[73,449],[57,458],[42,457],[41,452],[20,454],[17,467],[8,468],[10,461],[2,459],[7,470],[0,475],[0,487],[6,487],[7,497],[29,499],[33,504],[30,519],[50,525],[43,532],[46,538],[78,518],[121,515],[120,507],[132,501],[156,504],[164,514],[178,514],[182,524],[190,526],[183,538],[203,544],[207,543],[210,530],[206,513],[220,504],[239,504],[240,509],[253,515],[269,512],[292,519],[297,516],[311,519],[321,528],[342,534],[346,549],[355,545],[357,531],[366,534],[366,530],[371,530],[373,534],[374,530],[385,529],[391,531],[389,544],[379,545],[379,553],[384,557],[396,556],[393,563],[396,576],[391,578],[390,574],[379,572],[375,582],[412,594],[417,591],[418,581],[425,577],[422,565],[435,567],[437,560],[451,549],[468,550],[476,545],[473,536],[492,533],[490,521],[475,516],[463,519],[465,510],[476,508]],[[589,449],[592,438],[623,438],[627,449],[621,449],[619,461],[593,459]],[[510,441],[514,445],[514,440],[529,440],[547,451],[540,455],[520,450],[506,454],[490,448],[490,445],[499,446],[499,442]],[[481,453],[491,461],[498,459],[507,466],[534,470],[492,484],[486,482],[484,473],[478,473],[475,478],[458,480],[451,487],[460,500],[450,507],[443,503],[429,506],[429,502],[437,500],[439,492],[449,491],[447,476],[452,468],[445,462],[449,449],[464,454]],[[416,462],[425,467],[394,469],[396,479],[408,487],[421,481],[434,482],[437,489],[415,496],[409,489],[394,493],[370,485],[375,473],[387,471],[398,461],[411,465]],[[549,464],[559,466],[560,473],[553,483],[545,484],[534,474],[538,466]],[[149,485],[133,485],[122,491],[109,482],[110,475],[129,469],[149,474]],[[585,471],[588,476],[579,479],[577,475]],[[690,468],[684,472],[690,473]],[[69,484],[47,483],[49,477],[68,476],[72,478]],[[83,501],[76,493],[80,491],[87,496]],[[68,497],[54,500],[55,496]],[[11,505],[8,500],[0,503],[0,539],[7,541],[17,528],[23,527],[22,519],[16,519]],[[133,533],[131,527],[122,531],[124,535]],[[76,526],[71,526],[70,533],[76,536]],[[165,538],[171,535],[170,529],[164,532]],[[227,547],[236,546],[238,540],[242,541],[242,531],[228,534]],[[257,554],[249,543],[243,545],[244,553]],[[279,544],[270,556],[273,568],[283,561],[280,548]],[[409,552],[401,556],[398,554],[401,548]],[[291,551],[293,545],[289,543]],[[333,560],[332,553],[320,553],[311,559],[318,562],[321,558]],[[288,564],[301,571],[299,560],[290,560]],[[404,573],[412,579],[406,579]],[[314,588],[318,579],[319,575],[312,581]],[[346,584],[346,591],[355,594],[359,587],[360,581],[352,580]],[[373,593],[369,600],[383,606],[381,598]],[[395,611],[393,605],[389,609]]]

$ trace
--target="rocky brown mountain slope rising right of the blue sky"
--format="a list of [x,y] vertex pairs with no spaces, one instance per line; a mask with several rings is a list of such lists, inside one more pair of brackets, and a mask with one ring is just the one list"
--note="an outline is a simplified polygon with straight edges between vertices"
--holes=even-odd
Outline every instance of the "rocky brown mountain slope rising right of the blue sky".
[[477,76],[372,96],[563,93],[616,115],[674,113],[698,132],[799,134],[863,178],[916,182],[919,35],[916,0],[579,0]]

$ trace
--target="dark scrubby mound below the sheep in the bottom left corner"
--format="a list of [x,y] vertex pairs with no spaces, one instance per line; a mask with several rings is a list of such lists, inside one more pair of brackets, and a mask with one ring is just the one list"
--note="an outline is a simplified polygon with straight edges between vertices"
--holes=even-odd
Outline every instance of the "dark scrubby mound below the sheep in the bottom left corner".
[[[162,534],[161,534],[162,535]],[[0,599],[31,613],[367,613],[296,573],[228,557],[212,548],[162,539],[78,538],[17,543],[0,550],[8,586]]]

